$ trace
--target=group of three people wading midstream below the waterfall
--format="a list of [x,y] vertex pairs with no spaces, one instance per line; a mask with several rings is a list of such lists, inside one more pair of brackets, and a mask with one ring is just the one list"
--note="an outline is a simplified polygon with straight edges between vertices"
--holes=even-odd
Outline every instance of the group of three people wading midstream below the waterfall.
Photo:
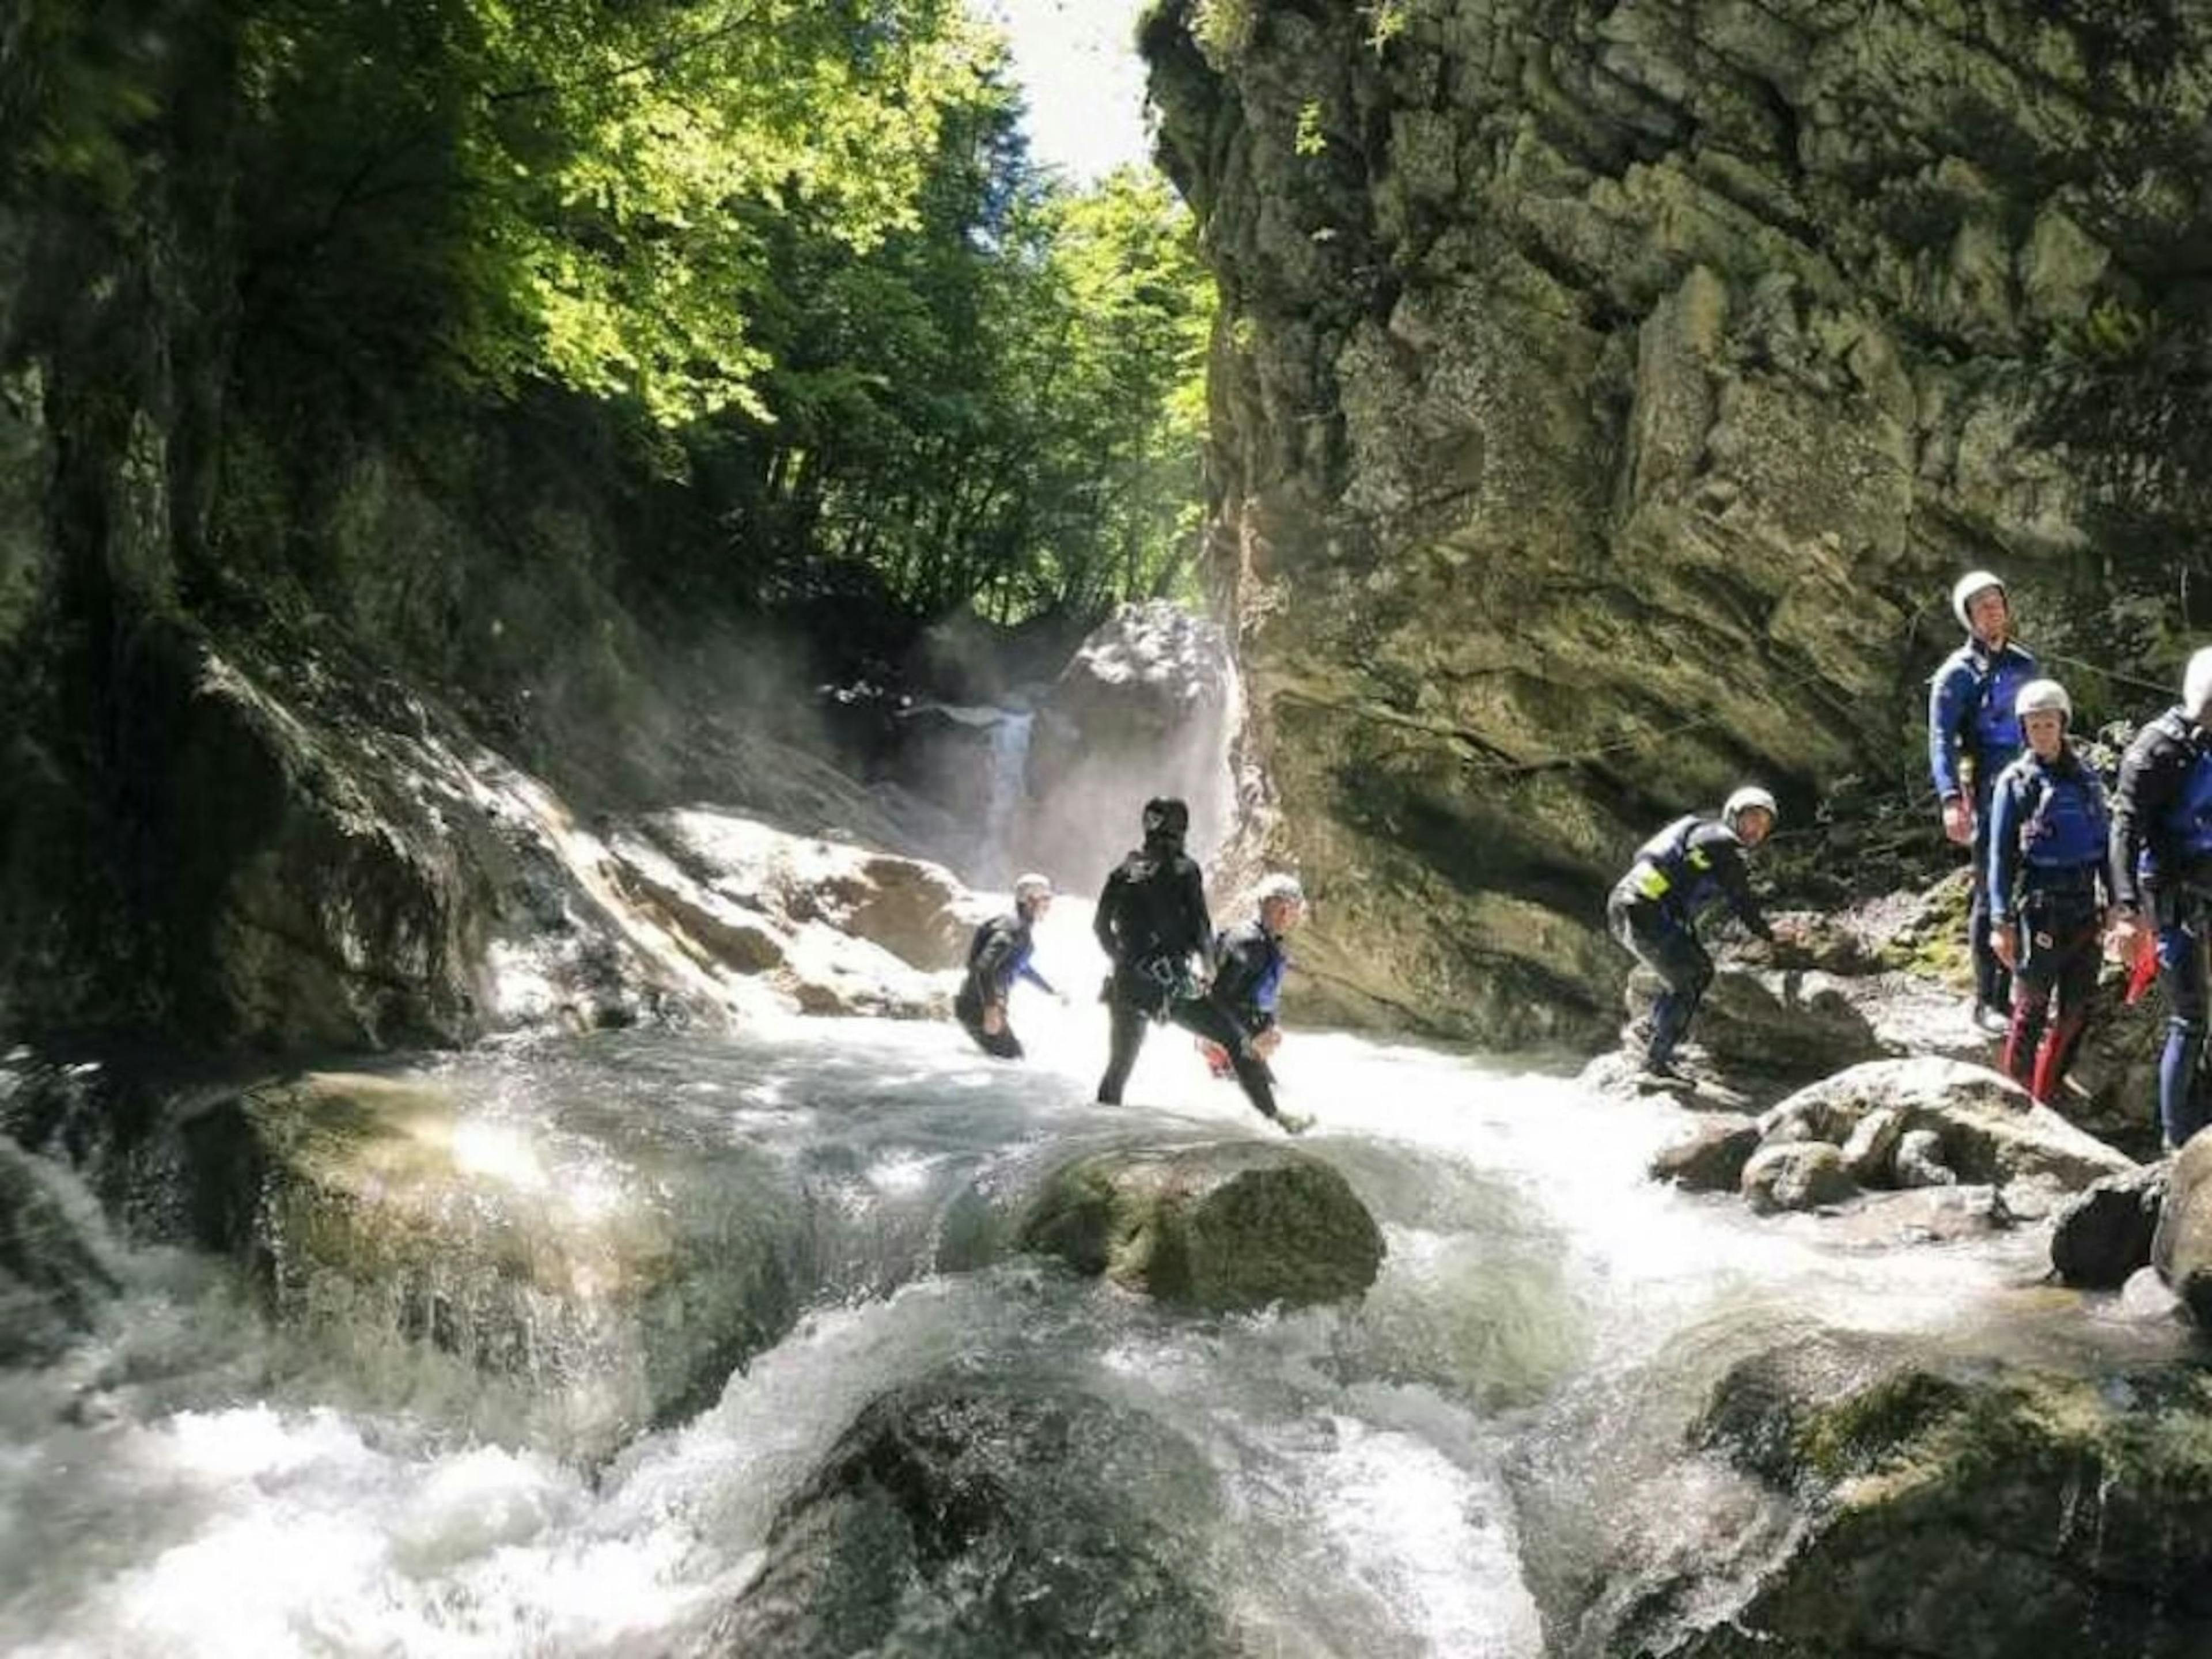
[[[1144,843],[1135,847],[1099,894],[1093,931],[1113,962],[1099,993],[1108,1009],[1108,1060],[1099,1104],[1119,1106],[1121,1091],[1152,1024],[1172,1020],[1199,1037],[1214,1068],[1239,1082],[1245,1099],[1292,1135],[1307,1117],[1281,1110],[1270,1057],[1281,1044],[1276,1002],[1290,958],[1283,940],[1305,916],[1296,876],[1259,883],[1252,920],[1217,933],[1206,907],[1206,876],[1183,852],[1190,807],[1161,796],[1144,805]],[[953,1015],[975,1044],[1000,1060],[1020,1060],[1022,1042],[1006,1022],[1006,1000],[1018,980],[1060,995],[1031,964],[1033,929],[1051,909],[1053,883],[1022,876],[1013,911],[975,929],[967,978]],[[1064,995],[1060,995],[1066,1002]]]

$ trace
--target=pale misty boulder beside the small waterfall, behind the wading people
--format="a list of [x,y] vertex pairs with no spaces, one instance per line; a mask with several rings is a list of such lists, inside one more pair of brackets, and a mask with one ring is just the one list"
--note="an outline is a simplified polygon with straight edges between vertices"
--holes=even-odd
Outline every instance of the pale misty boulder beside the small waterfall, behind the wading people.
[[1037,706],[1020,860],[1095,894],[1137,845],[1155,794],[1190,803],[1190,852],[1206,860],[1230,830],[1228,734],[1237,701],[1221,628],[1164,599],[1121,606]]

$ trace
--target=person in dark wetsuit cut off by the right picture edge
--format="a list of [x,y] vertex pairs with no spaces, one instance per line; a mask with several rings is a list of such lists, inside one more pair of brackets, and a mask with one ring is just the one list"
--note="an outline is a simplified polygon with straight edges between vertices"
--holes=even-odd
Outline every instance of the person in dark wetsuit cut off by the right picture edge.
[[2212,646],[2190,657],[2181,701],[2150,721],[2119,761],[2112,790],[2112,942],[2132,960],[2157,940],[2166,989],[2159,1126],[2177,1148],[2205,1126],[2197,1086],[2205,1042],[2205,925],[2212,918]]

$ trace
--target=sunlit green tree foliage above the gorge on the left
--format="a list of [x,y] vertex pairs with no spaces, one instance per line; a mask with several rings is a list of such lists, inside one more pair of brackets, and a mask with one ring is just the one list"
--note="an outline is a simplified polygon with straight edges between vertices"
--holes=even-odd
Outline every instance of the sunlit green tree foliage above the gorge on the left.
[[681,604],[1186,580],[1190,219],[1035,168],[964,0],[24,0],[0,71],[18,184],[221,179],[241,378],[553,387],[650,440]]

